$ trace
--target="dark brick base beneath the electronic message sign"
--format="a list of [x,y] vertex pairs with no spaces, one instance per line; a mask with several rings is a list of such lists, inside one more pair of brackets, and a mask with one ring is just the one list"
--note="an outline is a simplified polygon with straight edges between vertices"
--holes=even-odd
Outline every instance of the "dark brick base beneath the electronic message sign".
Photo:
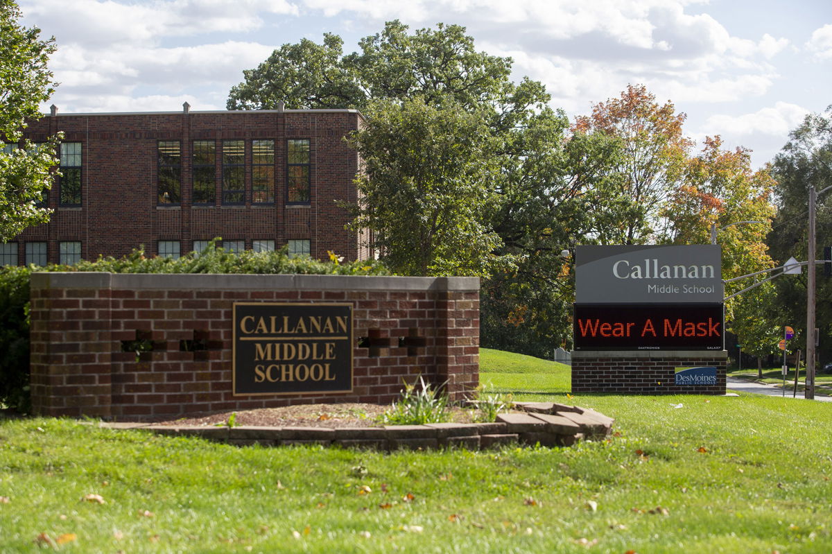
[[[572,352],[572,393],[725,394],[727,353]],[[676,384],[679,368],[716,368],[715,384]]]

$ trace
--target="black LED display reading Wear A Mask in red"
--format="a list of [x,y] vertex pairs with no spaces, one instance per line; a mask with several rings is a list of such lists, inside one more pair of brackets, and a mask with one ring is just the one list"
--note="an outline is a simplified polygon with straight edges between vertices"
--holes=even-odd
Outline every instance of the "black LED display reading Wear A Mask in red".
[[722,350],[722,304],[575,304],[576,350]]

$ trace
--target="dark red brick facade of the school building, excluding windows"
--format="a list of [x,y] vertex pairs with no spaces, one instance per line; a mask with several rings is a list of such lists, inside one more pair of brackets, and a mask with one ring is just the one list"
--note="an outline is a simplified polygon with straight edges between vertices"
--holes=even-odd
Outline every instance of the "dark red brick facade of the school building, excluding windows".
[[[49,195],[54,209],[48,224],[17,235],[19,264],[24,243],[48,241],[48,259],[58,261],[58,242],[80,240],[82,257],[121,256],[144,245],[156,254],[158,240],[180,240],[183,253],[193,240],[221,236],[225,240],[308,239],[311,254],[326,258],[327,250],[347,260],[359,256],[358,237],[344,230],[349,215],[338,201],[354,202],[353,179],[358,155],[344,136],[359,126],[351,110],[191,111],[189,113],[58,114],[32,121],[25,136],[44,141],[63,131],[64,141],[82,143],[82,206],[62,208],[57,187]],[[286,140],[310,140],[311,201],[286,205]],[[245,205],[222,205],[220,162],[217,199],[213,206],[192,206],[191,147],[195,140],[224,139],[246,143]],[[275,203],[251,205],[250,141],[275,140]],[[181,141],[181,205],[157,206],[157,141]]]

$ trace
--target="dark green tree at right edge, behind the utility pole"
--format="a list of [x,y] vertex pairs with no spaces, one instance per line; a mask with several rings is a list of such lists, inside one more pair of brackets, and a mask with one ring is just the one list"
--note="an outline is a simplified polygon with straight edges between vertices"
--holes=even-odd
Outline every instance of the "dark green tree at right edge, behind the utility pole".
[[[790,133],[790,140],[775,157],[777,216],[769,245],[777,265],[794,256],[807,259],[809,188],[823,190],[832,184],[832,106],[823,113],[810,114]],[[815,259],[822,259],[823,246],[832,245],[832,191],[818,198]],[[816,325],[820,329],[820,360],[832,361],[832,279],[817,273],[815,289]],[[774,281],[780,324],[795,328],[798,342],[805,343],[806,278],[786,275]]]

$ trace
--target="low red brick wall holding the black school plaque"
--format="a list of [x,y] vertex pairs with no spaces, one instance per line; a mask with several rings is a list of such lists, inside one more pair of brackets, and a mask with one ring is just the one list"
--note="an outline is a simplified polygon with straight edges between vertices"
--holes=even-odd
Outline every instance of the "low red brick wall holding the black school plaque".
[[[478,384],[475,278],[334,275],[32,275],[35,413],[153,418],[285,406],[390,403],[422,375],[460,399]],[[234,302],[353,304],[352,393],[232,396]],[[153,351],[123,352],[148,339]],[[182,351],[181,340],[207,349]]]

